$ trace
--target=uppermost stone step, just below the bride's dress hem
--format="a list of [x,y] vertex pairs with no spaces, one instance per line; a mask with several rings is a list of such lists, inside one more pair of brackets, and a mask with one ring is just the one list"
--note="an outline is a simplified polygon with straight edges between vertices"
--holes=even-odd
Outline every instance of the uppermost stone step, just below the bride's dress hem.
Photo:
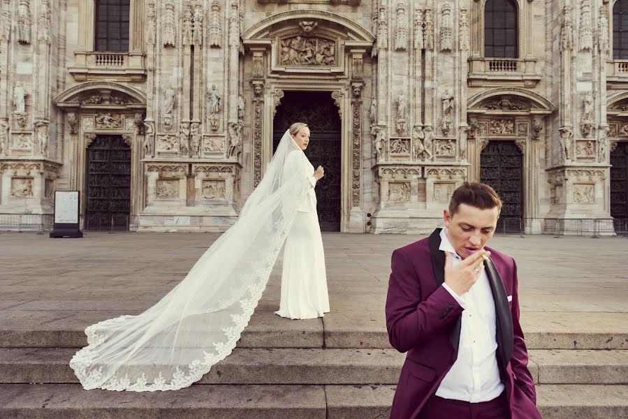
[[[0,311],[0,347],[80,348],[85,327],[139,311]],[[582,316],[580,316],[582,315]],[[628,313],[523,314],[528,349],[628,349]],[[390,348],[383,311],[363,311],[286,321],[258,310],[242,332],[239,348]]]

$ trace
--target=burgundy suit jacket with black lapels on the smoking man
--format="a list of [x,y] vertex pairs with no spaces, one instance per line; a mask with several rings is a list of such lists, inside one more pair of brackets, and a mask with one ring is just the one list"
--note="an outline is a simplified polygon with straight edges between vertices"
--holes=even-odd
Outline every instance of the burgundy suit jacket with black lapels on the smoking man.
[[[390,344],[397,351],[407,352],[407,356],[391,419],[417,418],[458,358],[462,307],[441,286],[445,279],[445,253],[439,250],[440,230],[393,252],[386,328]],[[491,253],[484,269],[495,300],[497,365],[511,417],[541,418],[519,325],[517,266],[510,256],[486,249]]]

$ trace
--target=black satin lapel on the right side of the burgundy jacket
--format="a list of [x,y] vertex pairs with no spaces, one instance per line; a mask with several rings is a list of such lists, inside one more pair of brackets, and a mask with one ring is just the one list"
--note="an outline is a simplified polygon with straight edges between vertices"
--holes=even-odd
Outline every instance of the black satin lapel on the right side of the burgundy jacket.
[[505,369],[513,354],[513,318],[502,277],[499,276],[492,259],[489,258],[484,261],[484,268],[488,276],[492,299],[495,301],[495,338],[497,339],[498,359],[501,358],[504,364],[502,367]]

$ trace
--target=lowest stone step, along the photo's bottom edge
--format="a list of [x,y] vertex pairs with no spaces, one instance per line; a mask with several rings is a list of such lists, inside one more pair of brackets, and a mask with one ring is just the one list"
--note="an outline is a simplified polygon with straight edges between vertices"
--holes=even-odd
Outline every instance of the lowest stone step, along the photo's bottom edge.
[[[539,385],[544,419],[628,418],[628,385]],[[78,384],[1,384],[3,419],[387,418],[392,385],[192,385],[176,392],[85,392]]]

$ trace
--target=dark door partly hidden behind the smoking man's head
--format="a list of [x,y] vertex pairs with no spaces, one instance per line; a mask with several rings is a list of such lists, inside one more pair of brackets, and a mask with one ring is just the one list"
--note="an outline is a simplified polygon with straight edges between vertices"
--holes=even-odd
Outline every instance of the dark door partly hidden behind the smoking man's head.
[[523,230],[523,154],[514,141],[491,140],[480,156],[480,181],[502,198],[497,233]]

